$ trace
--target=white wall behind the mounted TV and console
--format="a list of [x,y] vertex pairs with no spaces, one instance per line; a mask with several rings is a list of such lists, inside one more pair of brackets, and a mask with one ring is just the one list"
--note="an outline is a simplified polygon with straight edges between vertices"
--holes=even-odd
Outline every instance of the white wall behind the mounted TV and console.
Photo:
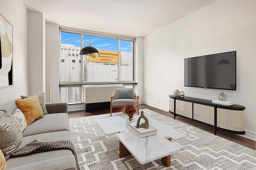
[[[144,37],[144,96],[169,110],[175,89],[215,100],[221,90],[184,87],[184,58],[237,51],[237,90],[228,100],[246,107],[245,137],[256,140],[256,1],[217,0]],[[157,50],[156,50],[157,49]]]

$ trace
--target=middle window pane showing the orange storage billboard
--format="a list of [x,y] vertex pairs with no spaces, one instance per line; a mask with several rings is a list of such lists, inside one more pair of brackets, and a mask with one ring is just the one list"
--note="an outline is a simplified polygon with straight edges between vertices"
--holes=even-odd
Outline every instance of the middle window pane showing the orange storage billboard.
[[[83,55],[84,82],[118,82],[118,39],[83,35],[100,57]],[[83,43],[84,47],[88,43]],[[133,72],[131,73],[133,74]]]

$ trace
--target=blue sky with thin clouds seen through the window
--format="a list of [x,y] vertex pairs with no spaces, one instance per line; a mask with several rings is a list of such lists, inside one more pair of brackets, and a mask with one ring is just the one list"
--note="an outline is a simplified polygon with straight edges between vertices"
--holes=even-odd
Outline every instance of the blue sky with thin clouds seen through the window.
[[[77,37],[77,38],[65,40],[71,37]],[[62,44],[71,44],[71,45],[75,45],[76,47],[80,47],[81,40],[78,38],[80,38],[80,34],[61,32],[61,41],[63,41]],[[118,51],[117,39],[96,37],[96,36],[90,36],[90,35],[83,35],[83,39],[88,41],[88,43],[90,43],[92,47],[98,50]],[[83,41],[84,47],[88,46],[88,43]],[[123,52],[131,52],[131,42],[121,40],[120,49]]]

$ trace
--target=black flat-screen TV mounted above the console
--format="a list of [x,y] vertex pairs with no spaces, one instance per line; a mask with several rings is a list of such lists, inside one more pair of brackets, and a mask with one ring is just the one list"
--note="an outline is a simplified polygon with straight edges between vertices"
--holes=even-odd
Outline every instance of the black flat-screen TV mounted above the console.
[[236,51],[184,59],[184,86],[236,90]]

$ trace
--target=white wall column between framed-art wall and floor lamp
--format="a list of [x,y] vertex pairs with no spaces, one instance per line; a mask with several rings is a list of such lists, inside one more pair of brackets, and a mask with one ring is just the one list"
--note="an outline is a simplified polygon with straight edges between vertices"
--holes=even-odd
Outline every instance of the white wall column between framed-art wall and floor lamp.
[[28,11],[28,94],[45,92],[44,14]]

